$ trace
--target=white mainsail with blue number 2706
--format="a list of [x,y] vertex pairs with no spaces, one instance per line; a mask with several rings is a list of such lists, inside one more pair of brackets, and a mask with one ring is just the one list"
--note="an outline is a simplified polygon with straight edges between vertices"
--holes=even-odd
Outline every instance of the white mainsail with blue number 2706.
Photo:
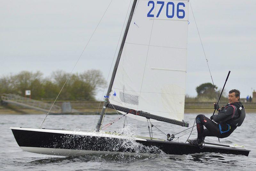
[[188,1],[138,1],[110,103],[182,121],[187,37]]

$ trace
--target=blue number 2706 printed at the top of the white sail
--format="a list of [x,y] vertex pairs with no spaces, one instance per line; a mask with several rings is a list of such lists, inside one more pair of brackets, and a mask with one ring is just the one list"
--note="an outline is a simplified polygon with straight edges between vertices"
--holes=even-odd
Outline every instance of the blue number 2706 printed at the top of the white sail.
[[[148,17],[154,17],[154,14],[151,14],[151,12],[155,8],[155,3],[154,3],[154,1],[148,1],[148,6],[151,6],[150,4],[152,4],[152,8],[148,12]],[[163,7],[164,7],[164,1],[157,1],[156,4],[161,4],[161,7],[160,7],[158,13],[156,14],[156,17],[159,17],[159,15],[160,15]],[[175,5],[174,5],[173,2],[167,2],[167,4],[166,4],[166,17],[167,18],[173,18],[173,16],[174,16],[174,6]],[[185,17],[185,11],[182,10],[182,9],[179,9],[180,6],[185,7],[185,4],[181,3],[181,2],[177,4],[177,17],[179,19],[183,19]],[[169,12],[169,8],[172,9],[172,12]]]

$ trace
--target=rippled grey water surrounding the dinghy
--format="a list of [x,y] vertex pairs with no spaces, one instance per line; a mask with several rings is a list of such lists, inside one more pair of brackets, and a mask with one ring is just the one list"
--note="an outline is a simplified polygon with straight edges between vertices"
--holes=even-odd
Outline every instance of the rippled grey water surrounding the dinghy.
[[[206,116],[210,117],[211,114]],[[107,124],[121,115],[107,115]],[[16,143],[9,127],[38,128],[45,115],[0,115],[0,170],[254,170],[256,168],[255,124],[256,114],[248,113],[241,127],[238,127],[229,137],[220,139],[223,144],[244,145],[251,150],[248,157],[218,153],[199,153],[192,155],[164,155],[141,157],[123,155],[89,155],[80,157],[61,157],[35,154],[22,151]],[[194,123],[196,114],[185,114],[185,119]],[[76,130],[92,130],[98,116],[95,115],[49,115],[43,128],[65,128]],[[147,122],[128,119],[127,133],[148,136]],[[125,123],[126,124],[126,123]],[[169,123],[153,123],[164,133],[178,133],[185,129]],[[127,124],[126,124],[127,125]],[[105,131],[116,131],[124,126],[124,117]],[[188,131],[187,131],[188,132]],[[186,133],[186,132],[184,132]],[[179,136],[181,136],[181,133]],[[193,131],[190,138],[196,137]],[[185,142],[189,134],[181,136],[180,142]],[[153,127],[153,136],[165,138],[165,135]],[[178,135],[177,135],[178,136]],[[206,137],[205,141],[218,143],[216,137]]]

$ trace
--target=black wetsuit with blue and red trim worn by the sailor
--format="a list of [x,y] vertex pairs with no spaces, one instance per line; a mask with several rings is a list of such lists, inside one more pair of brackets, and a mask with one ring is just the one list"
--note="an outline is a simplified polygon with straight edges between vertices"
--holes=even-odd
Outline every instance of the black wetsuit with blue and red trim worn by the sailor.
[[[213,115],[213,120],[217,123],[202,114],[197,115],[197,138],[203,139],[205,136],[228,137],[236,129],[236,126],[230,122],[233,118],[240,116],[240,107],[243,107],[241,102],[227,104],[222,107],[218,114]],[[205,129],[203,125],[206,127]]]

